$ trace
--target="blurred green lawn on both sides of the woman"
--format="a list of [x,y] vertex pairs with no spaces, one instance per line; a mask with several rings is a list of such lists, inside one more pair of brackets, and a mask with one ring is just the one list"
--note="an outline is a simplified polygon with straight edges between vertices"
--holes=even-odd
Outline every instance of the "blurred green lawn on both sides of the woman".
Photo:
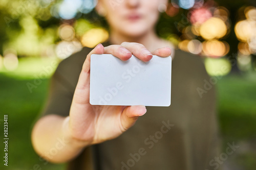
[[[20,60],[19,67],[13,72],[0,70],[0,126],[3,127],[4,114],[8,114],[10,165],[6,168],[2,162],[0,169],[58,170],[65,167],[65,164],[56,165],[41,161],[33,151],[30,141],[31,127],[44,104],[49,77],[55,69],[54,66],[51,71],[45,69],[51,66],[52,61],[31,58]],[[44,72],[47,73],[44,77],[38,76]],[[35,84],[35,80],[36,88],[30,92],[27,83]],[[232,141],[256,139],[256,75],[225,76],[218,81],[217,89],[223,145]],[[1,153],[3,156],[3,151]],[[242,154],[238,158],[237,162],[245,169],[255,168],[255,152]]]

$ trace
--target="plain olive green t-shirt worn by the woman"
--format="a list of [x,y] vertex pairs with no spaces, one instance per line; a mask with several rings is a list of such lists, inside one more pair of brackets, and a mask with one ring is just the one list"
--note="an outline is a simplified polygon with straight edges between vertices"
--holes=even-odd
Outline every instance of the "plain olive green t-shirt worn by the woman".
[[[60,62],[42,115],[69,115],[82,64],[91,50],[84,47]],[[115,139],[86,148],[69,162],[68,168],[218,169],[220,164],[214,160],[219,156],[216,96],[214,86],[207,86],[206,82],[210,78],[202,59],[176,50],[172,62],[172,104],[146,107],[146,114],[132,128]]]

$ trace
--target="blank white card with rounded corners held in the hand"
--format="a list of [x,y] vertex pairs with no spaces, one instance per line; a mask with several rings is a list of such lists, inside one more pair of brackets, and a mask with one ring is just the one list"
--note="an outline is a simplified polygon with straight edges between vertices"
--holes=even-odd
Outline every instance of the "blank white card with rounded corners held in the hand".
[[91,55],[91,105],[169,106],[172,58],[135,56],[122,61],[111,54]]

